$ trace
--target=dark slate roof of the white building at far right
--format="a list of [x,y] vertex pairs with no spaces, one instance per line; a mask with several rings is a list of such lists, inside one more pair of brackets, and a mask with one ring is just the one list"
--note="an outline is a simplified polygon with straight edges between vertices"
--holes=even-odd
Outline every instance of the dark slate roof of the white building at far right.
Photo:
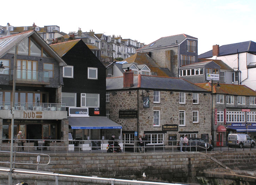
[[[253,41],[246,41],[246,42],[222,45],[219,48],[220,48],[220,54],[218,56],[236,54],[237,49],[238,49],[238,53],[244,53],[244,52],[254,53],[256,52],[256,43]],[[212,50],[198,55],[198,58],[209,58],[209,57],[212,57]]]

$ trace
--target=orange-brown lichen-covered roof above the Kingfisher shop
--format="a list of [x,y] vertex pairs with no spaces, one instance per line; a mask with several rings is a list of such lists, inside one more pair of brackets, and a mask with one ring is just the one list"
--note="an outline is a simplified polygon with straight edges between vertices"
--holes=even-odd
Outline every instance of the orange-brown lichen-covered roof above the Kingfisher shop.
[[[202,87],[208,91],[211,91],[211,83],[201,83],[196,84],[199,87]],[[245,85],[234,85],[234,84],[220,84],[220,87],[217,87],[217,84],[213,85],[213,93],[217,94],[230,94],[230,95],[243,95],[243,96],[256,96],[256,91]]]

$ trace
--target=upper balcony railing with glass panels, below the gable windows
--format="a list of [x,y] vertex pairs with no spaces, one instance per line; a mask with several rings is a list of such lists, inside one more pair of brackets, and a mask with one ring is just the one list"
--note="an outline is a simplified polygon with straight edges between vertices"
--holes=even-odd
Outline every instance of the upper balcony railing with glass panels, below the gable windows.
[[[49,82],[48,71],[37,71],[27,69],[16,69],[17,70],[17,81],[31,81],[31,82]],[[10,73],[9,73],[10,74]],[[10,75],[10,80],[13,80],[13,75]]]

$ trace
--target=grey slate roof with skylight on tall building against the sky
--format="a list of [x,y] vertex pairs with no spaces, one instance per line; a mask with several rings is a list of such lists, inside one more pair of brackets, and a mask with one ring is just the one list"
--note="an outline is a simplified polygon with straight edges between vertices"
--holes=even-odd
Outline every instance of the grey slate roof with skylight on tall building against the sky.
[[[192,37],[186,34],[179,34],[179,35],[173,35],[173,36],[168,36],[168,37],[161,37],[158,40],[151,42],[148,45],[145,45],[144,47],[138,49],[137,51],[143,51],[146,49],[155,49],[155,48],[160,48],[160,47],[166,47],[166,46],[172,46],[172,45],[178,45],[184,39],[186,38],[193,38],[197,39],[196,37]],[[177,42],[176,42],[177,41]],[[152,43],[155,43],[154,45],[150,46]]]

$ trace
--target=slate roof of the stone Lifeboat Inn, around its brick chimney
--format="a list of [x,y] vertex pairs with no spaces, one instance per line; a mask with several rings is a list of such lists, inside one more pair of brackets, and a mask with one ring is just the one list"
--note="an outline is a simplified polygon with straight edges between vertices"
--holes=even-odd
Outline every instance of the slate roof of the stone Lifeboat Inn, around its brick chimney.
[[[172,91],[197,91],[209,92],[195,84],[181,79],[160,76],[133,75],[133,87],[131,88],[146,88],[156,90],[172,90]],[[106,78],[106,90],[122,90],[123,76]]]

